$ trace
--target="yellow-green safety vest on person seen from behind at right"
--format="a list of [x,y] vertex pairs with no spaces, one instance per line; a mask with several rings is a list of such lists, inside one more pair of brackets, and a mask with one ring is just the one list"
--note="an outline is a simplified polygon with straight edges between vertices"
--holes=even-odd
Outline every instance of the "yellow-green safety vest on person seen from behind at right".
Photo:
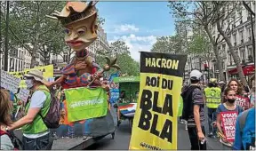
[[221,90],[219,87],[205,88],[206,107],[217,108],[221,103]]

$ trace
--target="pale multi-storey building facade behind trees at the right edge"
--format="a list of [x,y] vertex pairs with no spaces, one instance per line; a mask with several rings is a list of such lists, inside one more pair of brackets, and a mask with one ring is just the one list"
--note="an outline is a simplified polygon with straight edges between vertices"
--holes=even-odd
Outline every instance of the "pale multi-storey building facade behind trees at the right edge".
[[[255,18],[251,22],[250,12],[244,8],[242,2],[237,3],[240,8],[230,15],[230,17],[236,21],[231,22],[229,26],[225,26],[223,30],[227,30],[228,38],[242,64],[244,76],[249,80],[255,71],[252,52],[252,22],[255,31]],[[255,12],[255,1],[247,1],[246,3],[252,8],[252,11]],[[228,7],[227,9],[230,9],[230,6]],[[224,24],[228,25],[230,20],[225,20]],[[216,24],[212,24],[212,34],[215,35],[214,37],[217,37],[219,34]],[[224,71],[225,80],[228,81],[231,77],[239,79],[236,64],[229,51],[228,44],[225,41],[218,44],[218,52],[220,52],[220,64]],[[216,64],[212,63],[212,66],[214,75],[219,78],[220,73],[219,70],[216,69]]]

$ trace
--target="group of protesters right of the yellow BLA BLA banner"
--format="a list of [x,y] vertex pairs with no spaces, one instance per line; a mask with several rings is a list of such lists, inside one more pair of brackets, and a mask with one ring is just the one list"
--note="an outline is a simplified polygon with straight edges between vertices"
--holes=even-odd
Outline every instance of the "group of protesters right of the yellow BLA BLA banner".
[[191,150],[206,150],[206,135],[220,139],[224,150],[255,150],[255,76],[248,86],[235,78],[227,84],[212,78],[206,85],[201,76],[193,70],[191,83],[184,84],[181,92],[180,123],[188,128]]

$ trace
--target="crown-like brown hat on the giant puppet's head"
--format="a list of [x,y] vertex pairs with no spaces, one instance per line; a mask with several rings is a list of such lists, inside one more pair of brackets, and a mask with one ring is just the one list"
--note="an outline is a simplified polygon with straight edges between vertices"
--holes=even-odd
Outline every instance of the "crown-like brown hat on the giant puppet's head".
[[47,17],[60,20],[61,24],[65,26],[78,20],[87,19],[97,13],[95,7],[97,2],[91,1],[88,4],[84,2],[67,2],[61,12],[55,11],[52,16],[47,15]]

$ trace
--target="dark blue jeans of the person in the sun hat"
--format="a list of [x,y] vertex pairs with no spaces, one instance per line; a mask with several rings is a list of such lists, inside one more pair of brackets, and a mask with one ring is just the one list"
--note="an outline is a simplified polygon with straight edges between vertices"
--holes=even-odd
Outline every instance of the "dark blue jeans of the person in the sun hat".
[[22,143],[23,150],[51,150],[53,138],[51,133],[36,139],[28,139],[23,136]]

